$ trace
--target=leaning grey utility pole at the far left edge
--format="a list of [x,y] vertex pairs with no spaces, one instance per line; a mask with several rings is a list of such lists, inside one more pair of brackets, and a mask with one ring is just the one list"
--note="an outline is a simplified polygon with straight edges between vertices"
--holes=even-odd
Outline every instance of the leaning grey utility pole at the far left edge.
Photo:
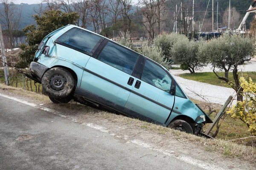
[[10,78],[9,78],[8,66],[5,64],[5,63],[7,63],[7,60],[6,60],[6,54],[5,54],[5,49],[4,49],[3,33],[2,33],[1,24],[0,24],[0,46],[1,46],[0,48],[1,48],[1,54],[2,54],[2,60],[3,60],[4,78],[6,80],[6,85],[9,85]]

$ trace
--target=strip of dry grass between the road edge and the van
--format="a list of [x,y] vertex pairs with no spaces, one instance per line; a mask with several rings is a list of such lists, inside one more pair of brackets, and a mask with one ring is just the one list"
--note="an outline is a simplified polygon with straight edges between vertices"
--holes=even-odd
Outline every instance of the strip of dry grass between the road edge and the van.
[[[49,101],[47,96],[44,96],[42,94],[36,94],[35,92],[24,91],[20,88],[0,85],[0,89],[5,89],[14,94],[26,96],[40,101]],[[90,115],[95,118],[107,119],[109,122],[113,122],[118,125],[126,125],[128,128],[131,129],[139,128],[142,130],[147,130],[150,133],[155,133],[157,135],[172,136],[174,139],[182,139],[185,142],[192,142],[194,145],[200,145],[208,152],[217,152],[227,157],[238,157],[241,160],[256,163],[255,147],[248,147],[234,142],[225,142],[222,139],[205,139],[199,136],[183,133],[160,125],[140,121],[139,119],[132,119],[127,116],[113,114],[106,111],[100,111],[98,109],[90,108],[85,105],[77,104],[76,102],[61,104],[56,106],[55,108],[66,108],[66,110],[68,111],[75,111],[73,112],[73,114]]]

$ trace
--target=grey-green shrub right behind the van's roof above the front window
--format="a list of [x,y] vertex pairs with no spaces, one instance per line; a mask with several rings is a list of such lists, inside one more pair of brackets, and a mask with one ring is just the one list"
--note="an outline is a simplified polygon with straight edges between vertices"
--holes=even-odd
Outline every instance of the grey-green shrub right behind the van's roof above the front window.
[[139,53],[154,60],[155,62],[158,62],[160,65],[163,65],[167,69],[171,69],[172,65],[167,61],[165,58],[165,55],[163,54],[163,51],[159,47],[143,47],[140,48]]

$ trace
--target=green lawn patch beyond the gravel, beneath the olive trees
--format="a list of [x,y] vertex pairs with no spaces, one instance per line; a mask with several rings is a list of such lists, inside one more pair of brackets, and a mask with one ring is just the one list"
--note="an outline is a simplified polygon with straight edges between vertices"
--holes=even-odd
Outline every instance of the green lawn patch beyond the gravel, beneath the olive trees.
[[[219,76],[224,77],[224,73],[218,73]],[[225,81],[218,79],[218,77],[213,72],[206,72],[206,73],[195,73],[195,74],[180,74],[180,77],[184,79],[191,79],[195,80],[197,82],[205,82],[211,85],[218,85],[222,87],[228,87],[230,88],[230,85],[228,85]],[[239,74],[241,77],[241,73]],[[251,77],[253,79],[253,82],[256,82],[256,72],[243,72],[243,77]],[[229,78],[233,80],[233,74],[229,73]]]

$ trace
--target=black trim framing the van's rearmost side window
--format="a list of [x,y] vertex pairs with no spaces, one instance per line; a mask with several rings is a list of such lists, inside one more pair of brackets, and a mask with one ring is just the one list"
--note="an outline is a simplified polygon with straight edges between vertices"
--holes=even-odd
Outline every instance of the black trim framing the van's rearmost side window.
[[93,53],[96,51],[96,49],[97,49],[97,48],[99,47],[99,45],[101,44],[101,42],[102,42],[103,40],[105,40],[104,37],[101,37],[101,36],[99,36],[99,35],[97,35],[97,34],[95,34],[95,33],[89,32],[89,31],[87,31],[87,30],[81,29],[81,30],[86,31],[86,32],[88,32],[88,33],[90,33],[90,34],[94,34],[94,35],[100,37],[100,40],[96,43],[96,45],[93,47],[93,49],[92,49],[92,51],[90,51],[90,53],[88,53],[87,51],[81,50],[80,48],[76,48],[76,47],[73,47],[73,46],[71,46],[71,45],[67,45],[67,44],[65,44],[64,42],[58,41],[58,39],[59,39],[62,35],[66,34],[67,32],[69,32],[69,31],[71,31],[71,30],[73,30],[73,29],[81,29],[81,28],[78,28],[78,27],[73,27],[73,28],[71,28],[70,30],[68,30],[68,31],[64,32],[63,34],[61,34],[54,42],[55,42],[56,44],[63,45],[63,46],[65,46],[65,47],[67,47],[67,48],[71,48],[71,49],[73,49],[73,50],[79,51],[79,52],[81,52],[81,53],[83,53],[83,54],[87,54],[87,55],[89,55],[89,56],[92,56]]

